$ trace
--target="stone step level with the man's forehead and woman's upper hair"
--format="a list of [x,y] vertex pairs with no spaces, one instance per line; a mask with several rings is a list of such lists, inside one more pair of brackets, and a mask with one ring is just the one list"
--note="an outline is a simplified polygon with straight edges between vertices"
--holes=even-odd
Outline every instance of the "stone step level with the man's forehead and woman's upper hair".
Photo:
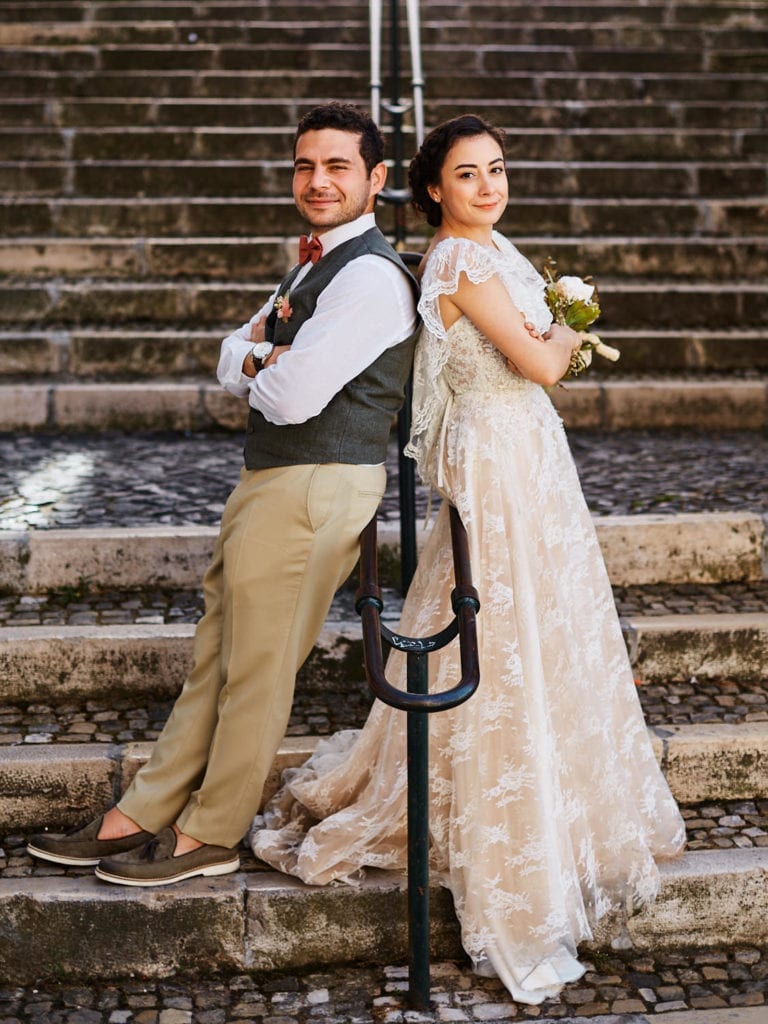
[[[513,115],[514,117],[514,115]],[[760,161],[765,129],[520,127],[508,132],[508,161]],[[0,128],[5,161],[290,160],[290,127],[117,126]]]

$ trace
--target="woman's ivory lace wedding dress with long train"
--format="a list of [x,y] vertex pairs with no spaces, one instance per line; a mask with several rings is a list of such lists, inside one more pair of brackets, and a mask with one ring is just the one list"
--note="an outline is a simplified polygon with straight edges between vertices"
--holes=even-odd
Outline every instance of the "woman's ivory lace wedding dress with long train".
[[[499,274],[544,331],[544,282],[502,236],[449,239],[422,282],[410,452],[459,512],[475,586],[480,685],[430,715],[432,868],[454,896],[464,947],[515,999],[540,1002],[584,972],[577,945],[605,914],[658,888],[654,858],[684,826],[635,690],[613,598],[562,423],[546,391],[514,374],[438,297],[465,272]],[[399,632],[452,616],[447,507],[409,591]],[[459,677],[458,641],[430,657],[430,688]],[[404,686],[404,655],[387,678]],[[251,833],[255,854],[307,883],[354,882],[407,862],[406,715],[380,702],[360,731],[324,740]]]

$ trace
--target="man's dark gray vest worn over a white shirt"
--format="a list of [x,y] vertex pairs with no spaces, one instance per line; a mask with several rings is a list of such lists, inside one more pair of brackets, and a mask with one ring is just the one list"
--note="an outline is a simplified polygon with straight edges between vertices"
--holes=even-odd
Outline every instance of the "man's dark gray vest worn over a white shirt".
[[[332,249],[293,288],[294,267],[281,283],[279,296],[290,291],[292,313],[282,321],[272,310],[266,322],[266,340],[290,345],[314,312],[324,288],[350,260],[373,253],[395,263],[407,275],[418,300],[419,286],[378,227]],[[246,429],[247,469],[343,462],[375,465],[385,461],[392,419],[402,404],[411,372],[416,332],[388,348],[378,359],[337,392],[322,413],[304,423],[278,426],[250,410]]]

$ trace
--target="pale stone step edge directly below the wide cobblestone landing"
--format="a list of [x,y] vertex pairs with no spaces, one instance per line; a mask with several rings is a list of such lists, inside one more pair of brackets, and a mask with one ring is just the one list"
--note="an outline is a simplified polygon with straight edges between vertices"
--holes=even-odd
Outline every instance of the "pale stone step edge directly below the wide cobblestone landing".
[[[768,578],[768,537],[754,512],[595,518],[614,586],[717,584]],[[425,530],[417,530],[422,544]],[[0,532],[0,592],[45,593],[87,580],[91,589],[200,586],[217,530],[211,526],[93,527]],[[399,526],[381,524],[382,581],[398,577]]]

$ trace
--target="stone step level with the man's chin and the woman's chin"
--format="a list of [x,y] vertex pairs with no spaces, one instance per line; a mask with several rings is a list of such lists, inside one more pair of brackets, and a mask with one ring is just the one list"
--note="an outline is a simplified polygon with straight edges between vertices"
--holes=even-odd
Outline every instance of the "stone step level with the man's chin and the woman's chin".
[[[294,238],[302,228],[293,201],[269,199],[183,197],[142,199],[130,204],[117,199],[0,197],[0,218],[6,239],[15,237],[75,238]],[[392,209],[383,205],[377,220],[392,231]],[[423,231],[423,221],[408,211],[410,233]],[[630,236],[636,241],[671,238],[757,237],[768,234],[768,199],[537,199],[510,200],[500,230],[511,238],[560,236]]]

